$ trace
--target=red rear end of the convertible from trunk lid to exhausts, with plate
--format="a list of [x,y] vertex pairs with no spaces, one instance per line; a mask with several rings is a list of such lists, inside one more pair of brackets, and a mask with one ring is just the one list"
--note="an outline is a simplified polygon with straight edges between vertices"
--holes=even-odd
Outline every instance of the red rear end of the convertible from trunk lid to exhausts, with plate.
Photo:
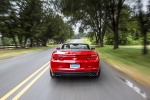
[[97,76],[100,60],[96,52],[53,53],[50,62],[53,76]]

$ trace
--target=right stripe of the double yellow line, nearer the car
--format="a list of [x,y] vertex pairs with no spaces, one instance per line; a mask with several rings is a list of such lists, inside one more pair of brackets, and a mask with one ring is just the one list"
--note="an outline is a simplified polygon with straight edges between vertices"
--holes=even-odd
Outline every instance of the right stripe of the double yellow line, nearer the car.
[[22,89],[12,100],[18,100],[47,70],[45,68],[36,78],[34,78],[24,89]]

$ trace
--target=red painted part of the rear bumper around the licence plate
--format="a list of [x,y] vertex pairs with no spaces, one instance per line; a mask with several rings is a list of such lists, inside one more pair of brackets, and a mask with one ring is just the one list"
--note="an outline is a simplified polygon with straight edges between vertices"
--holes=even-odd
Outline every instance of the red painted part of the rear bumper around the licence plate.
[[[80,67],[78,69],[71,69],[70,64],[79,64]],[[95,71],[100,67],[100,61],[51,61],[50,69],[52,72],[54,71]]]

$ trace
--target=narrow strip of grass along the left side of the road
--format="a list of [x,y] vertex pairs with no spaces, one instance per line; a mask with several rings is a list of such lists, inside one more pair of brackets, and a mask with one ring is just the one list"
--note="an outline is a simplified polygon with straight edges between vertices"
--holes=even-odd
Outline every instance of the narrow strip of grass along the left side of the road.
[[26,54],[26,53],[46,50],[56,46],[58,45],[48,45],[47,47],[33,47],[33,48],[0,49],[0,60]]

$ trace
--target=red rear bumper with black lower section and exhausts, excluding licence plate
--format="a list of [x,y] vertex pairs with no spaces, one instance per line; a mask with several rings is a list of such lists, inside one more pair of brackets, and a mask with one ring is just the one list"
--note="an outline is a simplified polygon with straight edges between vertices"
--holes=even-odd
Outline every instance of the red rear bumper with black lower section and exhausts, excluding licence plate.
[[[70,64],[80,64],[70,68]],[[55,76],[95,76],[100,70],[100,61],[51,61],[50,70]]]

